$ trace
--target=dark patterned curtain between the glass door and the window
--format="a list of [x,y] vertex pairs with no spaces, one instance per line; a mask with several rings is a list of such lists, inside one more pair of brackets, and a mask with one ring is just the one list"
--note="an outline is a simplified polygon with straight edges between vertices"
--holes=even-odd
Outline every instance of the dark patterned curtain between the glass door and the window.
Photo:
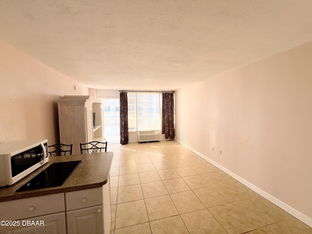
[[120,144],[129,142],[128,134],[128,98],[127,92],[120,92]]

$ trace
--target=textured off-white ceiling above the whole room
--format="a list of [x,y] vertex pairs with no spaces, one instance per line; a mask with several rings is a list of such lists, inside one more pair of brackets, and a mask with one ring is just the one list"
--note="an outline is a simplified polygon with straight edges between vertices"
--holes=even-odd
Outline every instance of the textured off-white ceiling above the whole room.
[[0,0],[0,39],[89,88],[176,90],[312,41],[312,0]]

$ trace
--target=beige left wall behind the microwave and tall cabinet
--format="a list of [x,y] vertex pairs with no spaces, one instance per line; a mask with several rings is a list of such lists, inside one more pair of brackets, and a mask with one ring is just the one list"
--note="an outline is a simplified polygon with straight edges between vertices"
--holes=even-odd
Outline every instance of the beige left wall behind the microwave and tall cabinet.
[[57,143],[57,100],[63,95],[88,95],[88,89],[3,41],[0,54],[0,143],[22,139]]

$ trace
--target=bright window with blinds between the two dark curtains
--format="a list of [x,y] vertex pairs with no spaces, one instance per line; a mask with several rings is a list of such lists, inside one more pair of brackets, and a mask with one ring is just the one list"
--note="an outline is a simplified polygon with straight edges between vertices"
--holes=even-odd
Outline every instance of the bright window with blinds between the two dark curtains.
[[160,130],[161,93],[128,93],[129,131]]

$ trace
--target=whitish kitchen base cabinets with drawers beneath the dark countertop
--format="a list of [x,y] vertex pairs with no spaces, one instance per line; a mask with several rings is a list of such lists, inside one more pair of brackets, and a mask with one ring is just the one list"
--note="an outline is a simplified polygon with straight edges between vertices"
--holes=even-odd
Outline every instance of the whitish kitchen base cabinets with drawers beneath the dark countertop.
[[0,226],[0,234],[109,234],[109,183],[108,175],[99,188],[0,202],[0,219],[20,223]]

